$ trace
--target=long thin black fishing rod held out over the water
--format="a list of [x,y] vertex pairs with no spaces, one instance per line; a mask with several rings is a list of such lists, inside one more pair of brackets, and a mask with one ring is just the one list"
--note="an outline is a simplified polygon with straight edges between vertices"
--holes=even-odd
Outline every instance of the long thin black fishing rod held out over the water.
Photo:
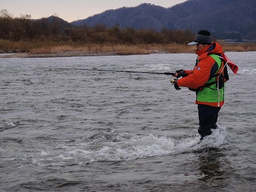
[[58,69],[58,70],[92,70],[92,71],[105,71],[105,72],[127,72],[127,73],[140,73],[140,74],[163,74],[167,76],[175,76],[172,72],[143,72],[143,71],[132,71],[132,70],[107,70],[107,69],[97,69],[97,68],[57,68],[49,67],[44,69]]

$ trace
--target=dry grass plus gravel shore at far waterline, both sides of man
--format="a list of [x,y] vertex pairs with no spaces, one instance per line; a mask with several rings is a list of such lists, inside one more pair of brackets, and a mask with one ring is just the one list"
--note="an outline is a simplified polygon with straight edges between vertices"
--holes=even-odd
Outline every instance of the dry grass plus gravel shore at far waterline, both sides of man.
[[[0,49],[0,58],[54,58],[73,56],[110,56],[110,55],[132,55],[132,54],[164,54],[164,53],[194,53],[195,46],[186,44],[85,44],[70,45],[55,43],[59,45],[42,45],[29,42],[10,42],[0,40],[0,45],[8,44],[8,51]],[[218,41],[217,41],[218,42]],[[218,42],[223,46],[225,52],[247,52],[256,51],[256,44],[227,44]],[[11,48],[12,47],[12,48]],[[10,49],[11,48],[11,49]],[[24,49],[26,48],[26,49]],[[10,51],[11,50],[11,51]]]

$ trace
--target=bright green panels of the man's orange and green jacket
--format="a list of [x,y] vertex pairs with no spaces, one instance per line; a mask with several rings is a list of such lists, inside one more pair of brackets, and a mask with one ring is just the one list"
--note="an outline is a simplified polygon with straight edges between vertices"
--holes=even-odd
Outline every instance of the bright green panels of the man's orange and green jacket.
[[[216,54],[211,54],[209,56],[211,56],[218,64],[218,70],[214,74],[216,75],[220,73],[219,70],[221,68],[221,59]],[[211,79],[209,79],[206,84],[212,83],[214,81],[216,81],[216,76],[211,77]],[[223,93],[224,93],[224,86],[220,88],[220,92],[219,92],[219,90],[217,89],[216,83],[214,83],[209,86],[205,86],[202,90],[198,90],[196,92],[196,100],[200,102],[222,102],[224,100]]]

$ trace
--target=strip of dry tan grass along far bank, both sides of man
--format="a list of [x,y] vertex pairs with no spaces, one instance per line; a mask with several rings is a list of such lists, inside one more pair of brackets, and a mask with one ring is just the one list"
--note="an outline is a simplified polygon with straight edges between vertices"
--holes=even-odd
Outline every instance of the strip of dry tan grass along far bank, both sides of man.
[[[256,44],[227,44],[219,42],[225,52],[227,51],[256,51]],[[65,51],[84,52],[111,52],[113,54],[151,54],[151,53],[179,53],[195,52],[195,46],[186,44],[77,44],[74,42],[10,42],[0,40],[0,52],[27,52],[29,54],[56,54]]]

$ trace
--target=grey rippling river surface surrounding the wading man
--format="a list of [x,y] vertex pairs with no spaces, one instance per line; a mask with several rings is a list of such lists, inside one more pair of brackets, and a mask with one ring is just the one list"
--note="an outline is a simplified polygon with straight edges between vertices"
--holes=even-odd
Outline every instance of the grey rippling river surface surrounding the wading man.
[[0,59],[0,191],[255,191],[256,52],[227,52],[219,129],[163,74],[196,54]]

